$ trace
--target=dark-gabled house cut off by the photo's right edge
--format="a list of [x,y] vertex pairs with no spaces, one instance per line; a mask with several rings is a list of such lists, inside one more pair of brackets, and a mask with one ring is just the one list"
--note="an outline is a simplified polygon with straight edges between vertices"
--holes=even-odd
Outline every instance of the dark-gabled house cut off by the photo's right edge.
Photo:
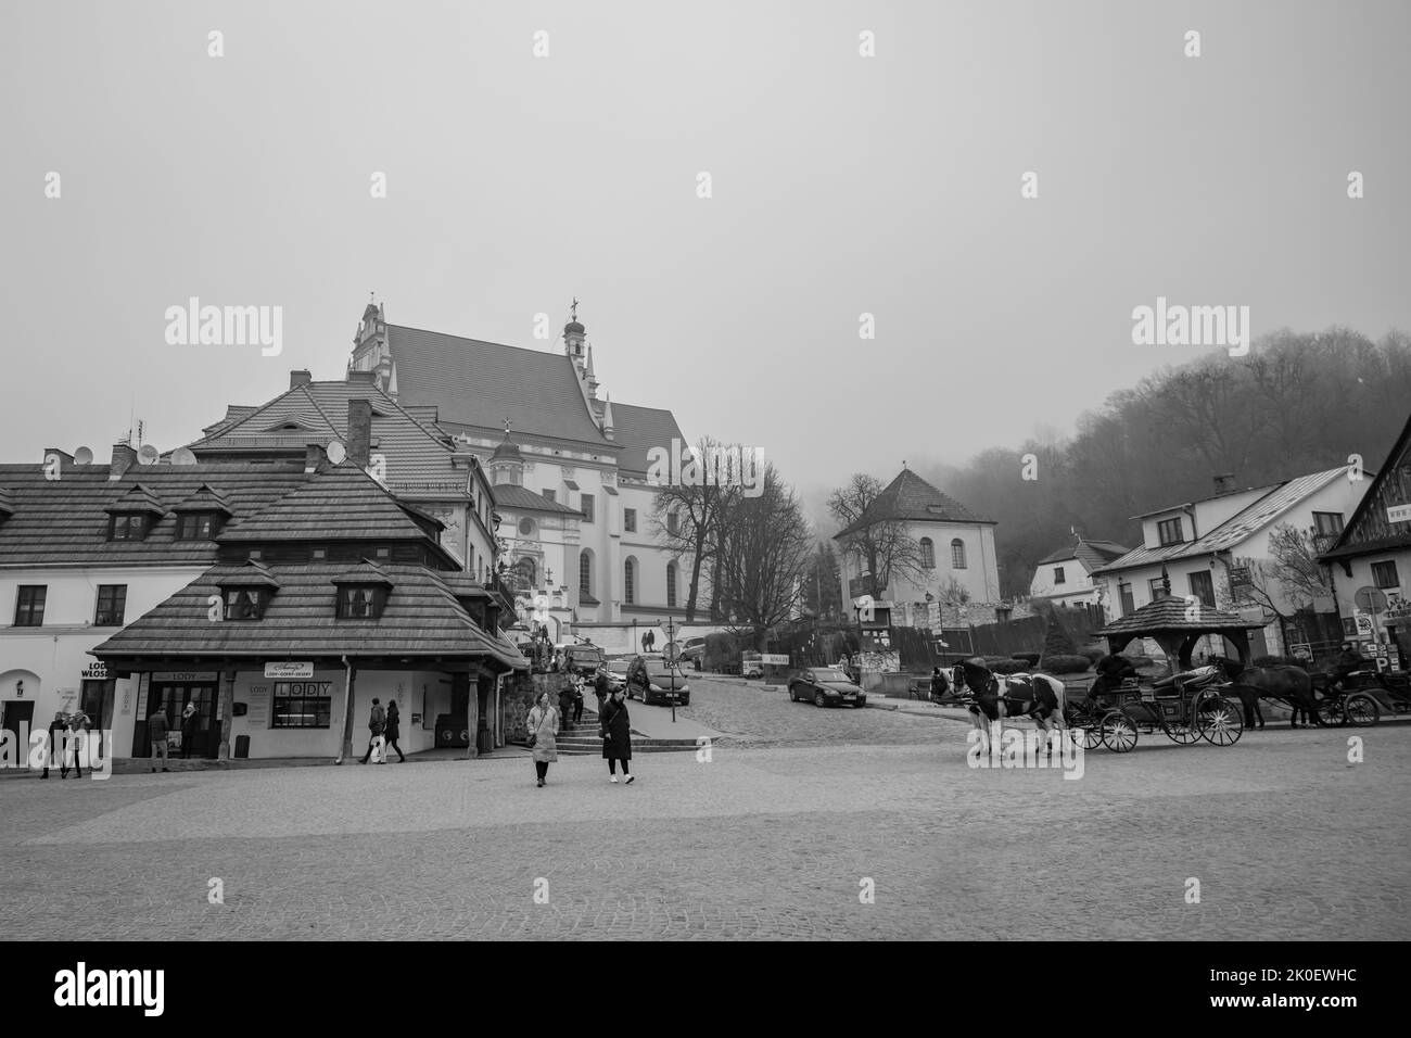
[[[1345,634],[1373,654],[1395,647],[1388,664],[1411,667],[1411,418],[1322,561],[1332,566]],[[1357,600],[1367,587],[1381,592],[1384,607],[1371,592]]]

